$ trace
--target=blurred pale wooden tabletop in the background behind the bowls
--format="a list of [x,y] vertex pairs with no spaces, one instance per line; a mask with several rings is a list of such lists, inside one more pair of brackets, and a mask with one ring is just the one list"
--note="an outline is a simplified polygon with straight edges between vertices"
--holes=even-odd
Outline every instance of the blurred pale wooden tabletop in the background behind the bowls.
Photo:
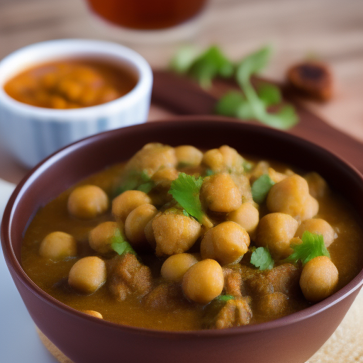
[[[0,59],[24,45],[56,38],[109,40],[110,35],[95,26],[83,0],[0,0]],[[306,104],[363,141],[362,0],[211,0],[201,30],[188,43],[200,48],[218,44],[233,60],[270,43],[274,57],[264,75],[276,80],[306,57],[330,63],[334,99]],[[180,43],[126,45],[152,67],[162,68]],[[149,118],[166,116],[152,107]],[[25,172],[0,145],[0,177],[16,183]]]

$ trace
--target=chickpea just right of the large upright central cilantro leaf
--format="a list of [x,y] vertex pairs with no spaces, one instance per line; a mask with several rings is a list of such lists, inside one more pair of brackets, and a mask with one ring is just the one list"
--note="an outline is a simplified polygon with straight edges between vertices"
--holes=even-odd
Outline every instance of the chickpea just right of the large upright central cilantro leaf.
[[229,174],[214,174],[204,179],[201,200],[214,212],[235,211],[242,204],[242,193]]

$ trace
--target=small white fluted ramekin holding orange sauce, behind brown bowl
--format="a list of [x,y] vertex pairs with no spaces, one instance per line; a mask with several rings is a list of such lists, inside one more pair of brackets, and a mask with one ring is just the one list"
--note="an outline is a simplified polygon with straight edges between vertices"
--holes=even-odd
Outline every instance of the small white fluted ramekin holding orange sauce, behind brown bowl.
[[[119,62],[138,74],[136,86],[119,99],[84,108],[57,110],[23,104],[4,91],[8,79],[23,69],[66,58],[90,57]],[[27,167],[86,136],[144,123],[150,108],[152,70],[137,52],[99,40],[62,39],[36,43],[0,62],[1,143]]]

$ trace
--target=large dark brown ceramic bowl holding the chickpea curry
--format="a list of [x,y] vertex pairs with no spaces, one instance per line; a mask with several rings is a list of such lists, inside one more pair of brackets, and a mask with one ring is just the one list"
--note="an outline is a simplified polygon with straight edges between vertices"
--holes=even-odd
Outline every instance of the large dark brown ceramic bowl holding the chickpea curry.
[[[208,121],[208,122],[207,122]],[[228,144],[242,154],[315,170],[363,217],[363,178],[339,157],[278,130],[212,116],[147,123],[91,136],[65,147],[21,181],[1,226],[6,263],[38,328],[75,363],[305,362],[330,337],[363,284],[363,270],[333,296],[269,323],[225,330],[166,332],[93,318],[45,294],[21,268],[23,233],[35,212],[58,194],[108,165],[128,160],[145,143]]]

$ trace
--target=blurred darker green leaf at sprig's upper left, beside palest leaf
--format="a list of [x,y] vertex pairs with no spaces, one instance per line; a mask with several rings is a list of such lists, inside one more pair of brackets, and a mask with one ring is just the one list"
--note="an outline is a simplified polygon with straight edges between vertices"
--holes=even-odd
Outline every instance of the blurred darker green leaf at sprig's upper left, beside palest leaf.
[[189,69],[190,74],[203,88],[211,87],[214,77],[231,77],[233,71],[232,62],[215,45],[203,52]]

